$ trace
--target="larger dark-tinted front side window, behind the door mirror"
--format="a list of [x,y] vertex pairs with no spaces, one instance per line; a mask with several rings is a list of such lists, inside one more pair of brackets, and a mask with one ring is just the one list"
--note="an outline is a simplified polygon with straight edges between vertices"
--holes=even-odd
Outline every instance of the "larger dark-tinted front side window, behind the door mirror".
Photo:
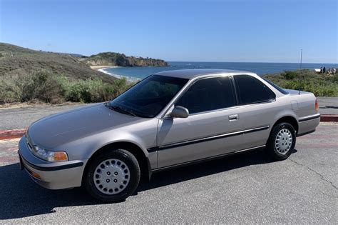
[[235,94],[229,77],[215,77],[196,81],[175,104],[190,114],[235,106]]

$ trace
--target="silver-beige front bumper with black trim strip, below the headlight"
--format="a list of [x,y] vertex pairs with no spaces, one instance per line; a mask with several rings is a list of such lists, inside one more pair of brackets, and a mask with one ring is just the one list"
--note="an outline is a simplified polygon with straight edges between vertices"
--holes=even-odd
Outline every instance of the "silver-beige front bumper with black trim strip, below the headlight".
[[[31,178],[46,189],[68,189],[81,186],[87,160],[48,162],[34,156],[26,144],[26,136],[19,141],[21,166]],[[33,174],[39,174],[39,178]]]

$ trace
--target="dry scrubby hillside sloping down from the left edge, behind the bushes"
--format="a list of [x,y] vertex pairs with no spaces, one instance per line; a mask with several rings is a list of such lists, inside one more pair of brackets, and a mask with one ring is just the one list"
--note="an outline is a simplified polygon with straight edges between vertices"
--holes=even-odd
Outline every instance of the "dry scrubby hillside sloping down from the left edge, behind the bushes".
[[24,75],[39,70],[50,71],[54,75],[64,75],[71,80],[95,77],[111,84],[115,80],[108,74],[92,70],[83,61],[79,61],[78,57],[0,43],[0,76]]

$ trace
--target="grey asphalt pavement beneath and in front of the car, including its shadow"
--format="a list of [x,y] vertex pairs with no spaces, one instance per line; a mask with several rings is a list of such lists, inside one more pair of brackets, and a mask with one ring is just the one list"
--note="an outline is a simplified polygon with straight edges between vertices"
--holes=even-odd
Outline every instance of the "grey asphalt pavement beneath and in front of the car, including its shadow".
[[155,174],[117,204],[81,188],[51,191],[19,170],[18,139],[0,141],[1,223],[338,223],[338,124],[297,139],[285,161],[263,151]]

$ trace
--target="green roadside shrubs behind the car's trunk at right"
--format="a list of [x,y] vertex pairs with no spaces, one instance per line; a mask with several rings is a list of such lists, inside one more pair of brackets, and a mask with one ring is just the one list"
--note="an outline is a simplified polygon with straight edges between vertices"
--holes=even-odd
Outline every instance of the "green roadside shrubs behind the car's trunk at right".
[[338,96],[338,74],[316,74],[309,69],[266,74],[265,78],[284,89],[312,92],[315,96]]

